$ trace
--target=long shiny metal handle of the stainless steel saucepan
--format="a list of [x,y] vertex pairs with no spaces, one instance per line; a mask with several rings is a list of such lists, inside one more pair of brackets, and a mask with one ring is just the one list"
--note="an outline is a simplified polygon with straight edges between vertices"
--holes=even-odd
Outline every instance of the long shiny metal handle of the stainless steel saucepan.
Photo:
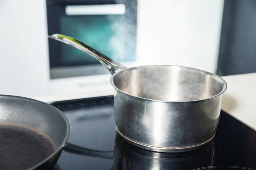
[[71,45],[81,51],[84,51],[85,53],[89,54],[90,56],[96,58],[99,60],[99,62],[102,63],[113,75],[117,71],[121,71],[125,69],[126,67],[122,65],[121,63],[105,56],[104,54],[101,54],[99,51],[95,50],[94,48],[91,48],[89,45],[84,44],[83,42],[76,40],[73,37],[68,37],[66,35],[62,34],[52,34],[48,35],[49,38],[53,40],[57,40],[60,42],[64,42],[68,45]]

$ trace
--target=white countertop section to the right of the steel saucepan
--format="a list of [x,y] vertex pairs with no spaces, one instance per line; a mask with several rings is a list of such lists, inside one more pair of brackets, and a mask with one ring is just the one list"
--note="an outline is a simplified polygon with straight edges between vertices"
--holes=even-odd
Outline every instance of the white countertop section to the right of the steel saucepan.
[[223,77],[227,91],[221,109],[256,130],[256,73]]

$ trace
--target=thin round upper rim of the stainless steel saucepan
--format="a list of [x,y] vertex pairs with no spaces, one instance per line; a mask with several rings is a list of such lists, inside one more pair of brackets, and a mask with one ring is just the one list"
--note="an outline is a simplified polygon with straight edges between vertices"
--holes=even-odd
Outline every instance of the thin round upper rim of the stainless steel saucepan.
[[[134,69],[137,69],[137,68],[142,68],[142,67],[177,67],[177,68],[186,68],[186,69],[189,69],[189,70],[193,70],[193,71],[198,71],[198,72],[201,72],[201,73],[204,73],[204,74],[208,74],[210,76],[213,76],[213,77],[217,77],[220,82],[223,84],[223,88],[222,88],[222,91],[214,96],[210,96],[208,98],[205,98],[205,99],[197,99],[197,100],[185,100],[185,101],[167,101],[167,100],[156,100],[156,99],[147,99],[147,98],[143,98],[143,97],[139,97],[139,96],[134,96],[134,95],[131,95],[131,94],[128,94],[128,93],[125,93],[124,91],[120,90],[119,88],[116,87],[116,85],[114,84],[113,82],[113,79],[114,77],[117,75],[117,74],[121,74],[122,72],[124,71],[130,71],[130,70],[134,70]],[[204,71],[204,70],[200,70],[200,69],[197,69],[197,68],[191,68],[191,67],[185,67],[185,66],[180,66],[180,65],[143,65],[143,66],[137,66],[137,67],[131,67],[131,68],[126,68],[126,69],[123,69],[119,72],[116,72],[115,74],[113,74],[111,76],[111,79],[110,79],[110,82],[111,82],[111,85],[119,92],[123,93],[123,94],[126,94],[128,96],[132,96],[134,98],[138,98],[138,99],[143,99],[143,100],[147,100],[147,101],[152,101],[152,102],[165,102],[165,103],[191,103],[191,102],[203,102],[203,101],[206,101],[206,100],[209,100],[209,99],[212,99],[212,98],[215,98],[221,94],[223,94],[226,90],[227,90],[227,82],[220,76],[216,75],[216,74],[213,74],[213,73],[210,73],[208,71]]]

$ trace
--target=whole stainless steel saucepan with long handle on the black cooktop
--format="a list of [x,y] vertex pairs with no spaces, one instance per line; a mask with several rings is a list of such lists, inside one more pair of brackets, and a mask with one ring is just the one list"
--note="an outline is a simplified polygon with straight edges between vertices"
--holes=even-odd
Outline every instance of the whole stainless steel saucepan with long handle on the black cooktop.
[[83,42],[64,42],[96,58],[111,72],[117,132],[131,144],[159,152],[202,147],[215,136],[227,83],[207,71],[175,65],[126,68]]

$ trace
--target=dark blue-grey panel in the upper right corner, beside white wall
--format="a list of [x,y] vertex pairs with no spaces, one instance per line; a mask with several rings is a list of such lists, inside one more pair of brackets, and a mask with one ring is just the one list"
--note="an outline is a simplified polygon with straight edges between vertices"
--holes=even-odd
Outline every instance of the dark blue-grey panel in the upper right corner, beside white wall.
[[217,74],[256,72],[256,1],[225,0]]

